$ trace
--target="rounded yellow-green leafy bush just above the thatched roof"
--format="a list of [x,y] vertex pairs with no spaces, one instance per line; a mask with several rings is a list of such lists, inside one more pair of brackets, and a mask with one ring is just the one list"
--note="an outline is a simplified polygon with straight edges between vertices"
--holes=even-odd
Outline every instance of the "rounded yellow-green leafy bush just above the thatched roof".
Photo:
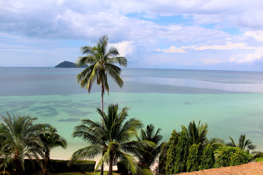
[[238,147],[219,147],[214,154],[217,157],[215,168],[242,165],[253,159],[252,154]]

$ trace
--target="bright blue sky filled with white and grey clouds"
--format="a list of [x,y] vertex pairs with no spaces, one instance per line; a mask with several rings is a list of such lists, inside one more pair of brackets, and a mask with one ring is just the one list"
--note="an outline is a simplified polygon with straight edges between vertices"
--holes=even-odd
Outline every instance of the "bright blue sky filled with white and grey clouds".
[[102,35],[127,68],[263,71],[262,0],[0,0],[0,67],[75,62]]

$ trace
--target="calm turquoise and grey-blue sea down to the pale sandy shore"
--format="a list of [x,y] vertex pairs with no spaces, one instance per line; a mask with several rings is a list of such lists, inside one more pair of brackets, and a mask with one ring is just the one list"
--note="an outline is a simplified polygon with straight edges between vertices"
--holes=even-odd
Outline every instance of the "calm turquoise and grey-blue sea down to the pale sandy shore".
[[[82,68],[0,68],[0,115],[38,117],[39,123],[55,125],[69,147],[51,152],[51,158],[69,159],[86,146],[72,139],[73,127],[84,118],[100,120],[100,87],[81,89],[75,76]],[[104,107],[119,103],[144,125],[161,127],[168,140],[173,129],[193,119],[208,123],[208,137],[236,142],[246,134],[263,151],[263,72],[180,69],[123,69],[124,87],[109,80]]]

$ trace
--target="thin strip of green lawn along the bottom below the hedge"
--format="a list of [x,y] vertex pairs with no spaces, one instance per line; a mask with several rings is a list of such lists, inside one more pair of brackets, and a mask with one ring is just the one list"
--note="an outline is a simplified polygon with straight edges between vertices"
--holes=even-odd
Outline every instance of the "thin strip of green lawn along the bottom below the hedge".
[[[103,175],[107,175],[108,171],[104,171]],[[3,171],[0,172],[0,174],[3,174]],[[16,173],[14,171],[6,171],[5,175],[15,175]],[[93,172],[59,172],[59,173],[53,173],[53,172],[48,172],[47,175],[93,175]],[[34,172],[32,175],[43,175],[43,172]],[[94,175],[100,175],[99,172],[95,172]],[[117,173],[117,171],[113,171],[113,175],[120,175]]]

